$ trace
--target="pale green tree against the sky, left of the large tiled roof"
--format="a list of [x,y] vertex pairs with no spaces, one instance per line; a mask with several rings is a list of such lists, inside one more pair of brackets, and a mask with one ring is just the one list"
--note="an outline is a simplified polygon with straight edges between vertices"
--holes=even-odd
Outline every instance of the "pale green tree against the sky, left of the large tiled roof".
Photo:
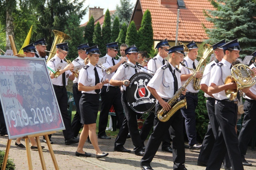
[[131,0],[120,0],[120,6],[116,5],[116,11],[112,15],[112,19],[117,16],[121,24],[126,23],[128,25],[133,9],[134,5]]

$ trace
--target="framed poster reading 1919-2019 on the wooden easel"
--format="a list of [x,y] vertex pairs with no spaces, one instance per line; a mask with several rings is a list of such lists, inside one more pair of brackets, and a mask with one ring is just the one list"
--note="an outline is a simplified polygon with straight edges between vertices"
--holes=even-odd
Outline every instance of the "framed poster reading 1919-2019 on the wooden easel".
[[43,58],[0,56],[0,99],[9,139],[65,130]]

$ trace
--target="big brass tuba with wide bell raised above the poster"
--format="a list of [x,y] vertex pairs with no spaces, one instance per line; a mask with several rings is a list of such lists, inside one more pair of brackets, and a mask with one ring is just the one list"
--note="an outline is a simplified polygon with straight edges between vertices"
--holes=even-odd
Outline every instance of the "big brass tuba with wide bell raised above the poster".
[[64,32],[53,30],[53,33],[54,33],[53,45],[50,51],[46,51],[46,52],[50,52],[46,63],[54,57],[56,53],[56,47],[55,47],[56,44],[64,43],[67,40],[71,40],[71,37],[65,34]]

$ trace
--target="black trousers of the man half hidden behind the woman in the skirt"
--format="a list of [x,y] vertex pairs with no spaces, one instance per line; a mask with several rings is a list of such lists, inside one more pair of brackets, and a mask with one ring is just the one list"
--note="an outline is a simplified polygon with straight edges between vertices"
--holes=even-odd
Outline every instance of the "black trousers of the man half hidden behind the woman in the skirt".
[[82,127],[81,113],[79,108],[79,101],[82,96],[82,92],[78,90],[78,83],[73,84],[73,96],[75,100],[76,112],[72,120],[71,127],[73,129],[74,136],[77,137]]

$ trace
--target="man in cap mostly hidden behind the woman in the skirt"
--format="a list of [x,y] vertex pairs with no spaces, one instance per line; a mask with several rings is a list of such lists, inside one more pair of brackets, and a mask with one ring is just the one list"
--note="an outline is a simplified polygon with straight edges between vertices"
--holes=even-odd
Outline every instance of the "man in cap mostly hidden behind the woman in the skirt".
[[[89,48],[89,44],[80,44],[79,46],[77,46],[77,52],[78,52],[78,57],[72,61],[74,66],[77,65],[85,65],[84,60],[87,57],[86,54],[86,49]],[[74,115],[74,118],[72,120],[71,123],[71,127],[73,129],[74,132],[74,137],[77,137],[79,134],[79,131],[82,127],[82,123],[81,123],[81,113],[80,113],[80,108],[79,108],[79,101],[80,98],[82,96],[82,92],[78,90],[78,78],[75,77],[74,81],[73,81],[73,96],[74,96],[74,100],[75,100],[75,106],[76,106],[76,113]]]

